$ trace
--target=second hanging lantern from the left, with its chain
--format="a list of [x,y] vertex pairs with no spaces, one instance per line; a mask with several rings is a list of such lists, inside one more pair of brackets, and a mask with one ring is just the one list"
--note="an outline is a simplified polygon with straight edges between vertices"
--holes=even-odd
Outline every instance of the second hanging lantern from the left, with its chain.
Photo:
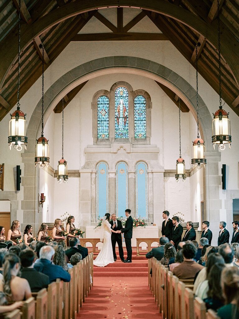
[[42,49],[42,105],[41,105],[41,137],[39,137],[36,142],[36,156],[35,156],[35,167],[37,164],[39,164],[39,167],[45,167],[46,164],[49,167],[49,145],[48,140],[46,137],[44,137],[43,128],[43,113],[44,113],[44,47],[43,45],[40,45],[40,48]]

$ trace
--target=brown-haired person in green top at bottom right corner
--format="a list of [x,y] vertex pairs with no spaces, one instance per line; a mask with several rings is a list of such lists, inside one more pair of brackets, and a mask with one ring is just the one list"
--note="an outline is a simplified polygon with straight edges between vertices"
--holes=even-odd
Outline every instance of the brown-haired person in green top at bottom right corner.
[[239,268],[226,267],[221,274],[222,292],[225,306],[218,309],[217,315],[222,319],[239,318]]

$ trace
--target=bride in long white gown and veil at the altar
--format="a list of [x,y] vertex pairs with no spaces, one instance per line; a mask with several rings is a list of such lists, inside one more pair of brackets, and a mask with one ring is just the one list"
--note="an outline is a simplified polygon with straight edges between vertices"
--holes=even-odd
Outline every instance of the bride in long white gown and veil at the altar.
[[103,246],[101,251],[99,252],[96,259],[93,261],[93,264],[98,267],[105,267],[109,263],[114,263],[113,249],[111,243],[111,233],[118,233],[118,231],[114,231],[111,229],[111,225],[109,223],[110,214],[106,213],[105,218],[102,220],[101,224],[101,238],[103,238]]

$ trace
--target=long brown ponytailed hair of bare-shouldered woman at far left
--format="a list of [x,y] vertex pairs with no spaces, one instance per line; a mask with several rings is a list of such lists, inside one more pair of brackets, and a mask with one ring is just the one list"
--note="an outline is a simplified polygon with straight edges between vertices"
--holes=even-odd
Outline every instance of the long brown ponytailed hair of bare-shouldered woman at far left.
[[9,253],[5,256],[5,261],[3,265],[3,276],[4,276],[4,286],[3,291],[8,298],[11,297],[11,270],[16,265],[16,263],[20,263],[20,259],[16,254]]

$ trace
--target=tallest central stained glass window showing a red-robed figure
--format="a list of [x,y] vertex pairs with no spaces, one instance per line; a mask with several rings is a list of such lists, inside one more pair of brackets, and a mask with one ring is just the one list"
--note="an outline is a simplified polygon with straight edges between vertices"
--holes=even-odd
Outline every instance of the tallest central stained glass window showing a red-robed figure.
[[115,138],[128,137],[128,91],[118,87],[115,90]]

